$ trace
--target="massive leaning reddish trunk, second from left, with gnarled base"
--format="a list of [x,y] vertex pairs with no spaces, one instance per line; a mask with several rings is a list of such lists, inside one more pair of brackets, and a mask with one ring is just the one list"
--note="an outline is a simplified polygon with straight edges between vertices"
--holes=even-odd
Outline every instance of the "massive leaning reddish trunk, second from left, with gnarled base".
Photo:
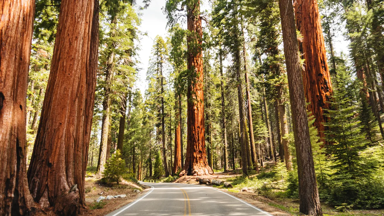
[[85,205],[98,53],[98,10],[94,11],[98,5],[94,2],[61,2],[51,72],[28,169],[34,200],[61,215],[77,214]]

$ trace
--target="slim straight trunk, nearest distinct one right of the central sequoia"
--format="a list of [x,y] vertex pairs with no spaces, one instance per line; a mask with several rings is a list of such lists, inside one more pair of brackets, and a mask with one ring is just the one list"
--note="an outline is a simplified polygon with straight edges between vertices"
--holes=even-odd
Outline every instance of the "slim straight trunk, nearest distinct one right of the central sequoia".
[[228,151],[227,151],[227,124],[225,122],[225,97],[224,97],[224,75],[223,75],[223,52],[220,48],[220,89],[221,89],[221,118],[222,118],[222,134],[223,134],[223,148],[224,148],[224,172],[228,171]]

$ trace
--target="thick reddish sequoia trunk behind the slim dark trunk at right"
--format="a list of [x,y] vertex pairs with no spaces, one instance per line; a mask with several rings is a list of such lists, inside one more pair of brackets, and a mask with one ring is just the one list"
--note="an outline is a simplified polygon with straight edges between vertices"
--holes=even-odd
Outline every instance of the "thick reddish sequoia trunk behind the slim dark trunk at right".
[[320,140],[328,144],[324,139],[327,127],[323,123],[328,120],[324,111],[330,108],[332,85],[317,1],[297,0],[295,15],[296,27],[303,36],[299,49],[305,59],[305,70],[302,72],[305,97],[310,103],[308,110],[316,118],[314,126],[318,129]]

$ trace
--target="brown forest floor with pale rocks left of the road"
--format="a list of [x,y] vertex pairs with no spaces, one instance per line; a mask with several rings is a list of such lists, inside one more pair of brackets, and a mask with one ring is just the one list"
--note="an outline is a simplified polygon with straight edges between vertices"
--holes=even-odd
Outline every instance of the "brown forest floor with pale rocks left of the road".
[[[93,177],[87,177],[85,179],[85,201],[87,208],[84,209],[80,215],[88,216],[102,216],[106,215],[124,205],[134,201],[137,197],[149,188],[146,185],[136,184],[135,182],[129,182],[123,180],[119,185],[108,185],[101,183],[98,179]],[[134,190],[140,190],[140,193],[134,192]],[[111,200],[103,200],[97,203],[96,200],[99,196],[115,196],[115,195],[127,195],[125,198],[115,198]]]

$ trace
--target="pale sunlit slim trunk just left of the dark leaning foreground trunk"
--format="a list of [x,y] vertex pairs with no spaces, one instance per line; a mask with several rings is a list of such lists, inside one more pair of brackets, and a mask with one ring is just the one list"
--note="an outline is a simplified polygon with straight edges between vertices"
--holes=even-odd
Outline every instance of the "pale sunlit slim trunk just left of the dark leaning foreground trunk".
[[283,142],[284,150],[284,160],[287,170],[293,170],[292,167],[292,155],[288,149],[288,124],[287,116],[285,114],[285,104],[283,103],[283,90],[282,87],[277,87],[277,97],[279,102],[279,118],[280,118],[280,128],[281,128],[281,140]]

